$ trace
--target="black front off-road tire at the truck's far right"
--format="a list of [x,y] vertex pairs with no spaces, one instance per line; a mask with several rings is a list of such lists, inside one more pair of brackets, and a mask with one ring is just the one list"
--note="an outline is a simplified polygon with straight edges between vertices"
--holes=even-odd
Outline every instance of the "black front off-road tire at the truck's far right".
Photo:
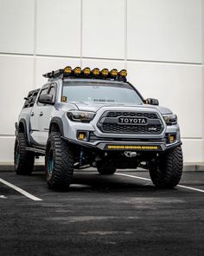
[[175,187],[182,178],[182,148],[176,147],[160,156],[159,161],[150,164],[150,178],[159,188]]

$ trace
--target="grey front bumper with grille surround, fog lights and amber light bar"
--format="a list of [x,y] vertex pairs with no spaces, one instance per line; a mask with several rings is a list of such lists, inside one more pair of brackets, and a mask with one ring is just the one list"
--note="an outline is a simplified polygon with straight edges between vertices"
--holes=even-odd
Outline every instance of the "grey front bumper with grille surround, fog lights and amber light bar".
[[[103,107],[99,108],[96,112],[94,119],[88,123],[84,122],[74,122],[70,121],[65,116],[64,120],[64,137],[63,139],[69,141],[74,145],[79,145],[80,147],[90,148],[92,151],[143,151],[143,152],[164,152],[171,148],[178,147],[182,144],[180,137],[180,128],[179,126],[172,125],[167,126],[163,121],[163,131],[160,134],[146,133],[142,132],[130,132],[128,131],[123,133],[119,130],[112,130],[112,133],[102,132],[99,127],[99,120],[101,116],[104,115],[107,111],[131,111],[131,112],[143,112],[145,115],[150,113],[156,114],[160,117],[160,121],[163,121],[163,116],[159,111],[153,108],[133,108],[133,107]],[[114,113],[115,113],[114,112]],[[129,113],[128,112],[128,113]],[[143,114],[143,115],[144,115]],[[149,118],[149,116],[148,116]],[[151,120],[151,117],[150,117]],[[153,119],[154,121],[154,119]],[[78,136],[79,133],[84,133],[85,140]],[[175,135],[175,141],[170,142],[168,139],[169,135]]]

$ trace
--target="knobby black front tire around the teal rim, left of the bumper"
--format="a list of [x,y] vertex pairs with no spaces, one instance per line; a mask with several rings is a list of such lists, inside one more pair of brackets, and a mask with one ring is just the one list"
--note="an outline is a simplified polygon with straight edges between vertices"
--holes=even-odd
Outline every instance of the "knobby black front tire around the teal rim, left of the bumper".
[[[53,154],[53,169],[49,171],[49,157]],[[48,187],[67,190],[73,178],[73,149],[61,139],[60,133],[51,133],[48,137],[45,154],[45,173]]]

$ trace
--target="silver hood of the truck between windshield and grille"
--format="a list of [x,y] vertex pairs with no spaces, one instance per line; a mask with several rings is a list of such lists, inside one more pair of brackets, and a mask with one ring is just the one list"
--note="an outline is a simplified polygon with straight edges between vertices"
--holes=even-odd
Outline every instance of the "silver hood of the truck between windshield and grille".
[[137,105],[137,104],[127,104],[127,103],[94,103],[94,102],[72,102],[75,107],[79,110],[92,111],[97,112],[100,108],[103,107],[133,107],[133,108],[155,108],[162,115],[164,114],[172,114],[172,111],[169,108],[165,108],[162,106],[154,106],[149,104]]

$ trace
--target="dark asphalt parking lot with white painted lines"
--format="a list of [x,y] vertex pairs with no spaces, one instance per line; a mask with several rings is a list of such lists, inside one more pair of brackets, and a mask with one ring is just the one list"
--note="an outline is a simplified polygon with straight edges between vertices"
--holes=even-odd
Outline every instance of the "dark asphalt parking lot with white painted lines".
[[44,179],[0,172],[0,255],[204,253],[204,172],[185,172],[169,190],[141,171],[76,171],[68,192]]

